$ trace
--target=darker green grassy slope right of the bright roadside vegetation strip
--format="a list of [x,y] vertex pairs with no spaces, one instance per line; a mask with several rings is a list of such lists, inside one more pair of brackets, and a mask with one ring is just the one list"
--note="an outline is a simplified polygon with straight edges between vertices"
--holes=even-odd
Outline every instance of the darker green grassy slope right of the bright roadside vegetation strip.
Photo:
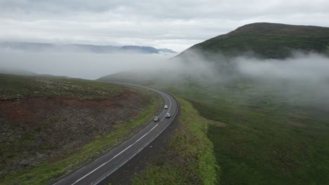
[[202,94],[205,88],[196,89],[186,98],[201,116],[226,125],[209,125],[208,132],[221,167],[219,184],[328,183],[326,111],[250,89],[241,95],[238,85]]

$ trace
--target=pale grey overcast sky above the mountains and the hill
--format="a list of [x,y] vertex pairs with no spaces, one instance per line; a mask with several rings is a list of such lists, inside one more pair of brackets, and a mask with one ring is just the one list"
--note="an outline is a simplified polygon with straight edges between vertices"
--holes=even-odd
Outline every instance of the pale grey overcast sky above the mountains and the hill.
[[328,0],[0,0],[0,41],[181,52],[252,22],[329,27]]

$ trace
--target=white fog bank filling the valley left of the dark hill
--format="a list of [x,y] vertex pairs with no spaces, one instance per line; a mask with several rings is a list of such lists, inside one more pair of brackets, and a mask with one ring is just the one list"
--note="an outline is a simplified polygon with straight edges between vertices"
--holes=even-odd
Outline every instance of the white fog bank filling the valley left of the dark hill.
[[0,50],[0,69],[96,79],[120,71],[153,69],[172,57],[160,54],[97,54]]

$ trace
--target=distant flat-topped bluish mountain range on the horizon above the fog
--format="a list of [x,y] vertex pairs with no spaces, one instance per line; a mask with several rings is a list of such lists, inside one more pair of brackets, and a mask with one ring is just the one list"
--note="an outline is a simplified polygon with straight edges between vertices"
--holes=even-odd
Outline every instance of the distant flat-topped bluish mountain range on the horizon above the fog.
[[87,44],[52,44],[52,43],[28,43],[28,42],[3,42],[0,48],[25,51],[55,51],[55,52],[88,52],[88,53],[143,53],[143,54],[176,54],[169,49],[157,49],[148,46],[97,46]]

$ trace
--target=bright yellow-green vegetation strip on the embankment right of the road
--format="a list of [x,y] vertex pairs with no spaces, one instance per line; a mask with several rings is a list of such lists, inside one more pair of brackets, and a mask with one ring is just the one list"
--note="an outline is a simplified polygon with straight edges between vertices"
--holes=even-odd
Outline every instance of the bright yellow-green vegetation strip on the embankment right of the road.
[[220,125],[202,118],[193,106],[183,99],[179,130],[169,139],[169,149],[133,184],[214,184],[219,167],[214,158],[212,142],[207,138],[208,125]]

